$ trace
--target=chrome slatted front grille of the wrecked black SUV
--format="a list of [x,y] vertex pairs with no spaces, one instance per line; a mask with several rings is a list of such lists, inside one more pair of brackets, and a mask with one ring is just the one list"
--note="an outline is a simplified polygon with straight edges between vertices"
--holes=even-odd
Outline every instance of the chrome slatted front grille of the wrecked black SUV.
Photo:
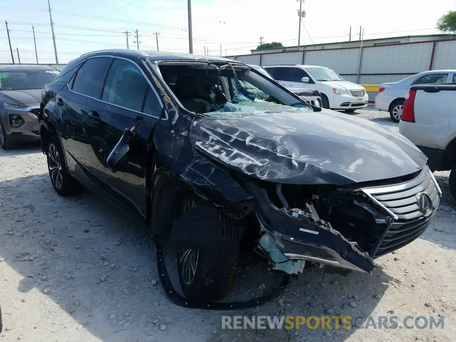
[[[405,221],[429,216],[439,205],[441,196],[440,187],[427,166],[411,181],[362,190],[395,220]],[[432,202],[429,212],[423,213],[423,208],[420,208],[418,198],[421,194],[427,195]]]

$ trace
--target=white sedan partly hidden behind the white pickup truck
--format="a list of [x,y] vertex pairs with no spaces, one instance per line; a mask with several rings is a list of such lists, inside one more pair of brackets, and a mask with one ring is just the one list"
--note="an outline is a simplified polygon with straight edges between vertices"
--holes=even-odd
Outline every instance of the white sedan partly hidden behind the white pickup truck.
[[456,83],[456,70],[424,71],[398,82],[383,83],[375,97],[375,108],[389,112],[391,119],[399,122],[409,88],[415,84],[431,83]]

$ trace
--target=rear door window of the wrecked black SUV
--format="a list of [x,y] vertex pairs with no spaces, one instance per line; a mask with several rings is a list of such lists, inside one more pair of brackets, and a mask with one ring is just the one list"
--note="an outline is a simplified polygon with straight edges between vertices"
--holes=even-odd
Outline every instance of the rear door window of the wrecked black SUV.
[[73,91],[93,98],[99,98],[108,60],[108,57],[88,59],[76,74],[73,82]]

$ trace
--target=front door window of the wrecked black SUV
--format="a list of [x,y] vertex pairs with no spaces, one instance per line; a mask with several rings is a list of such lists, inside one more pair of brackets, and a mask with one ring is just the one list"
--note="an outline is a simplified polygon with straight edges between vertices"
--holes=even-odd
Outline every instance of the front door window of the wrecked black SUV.
[[135,64],[124,59],[114,58],[101,99],[137,112],[160,116],[160,103],[144,75]]

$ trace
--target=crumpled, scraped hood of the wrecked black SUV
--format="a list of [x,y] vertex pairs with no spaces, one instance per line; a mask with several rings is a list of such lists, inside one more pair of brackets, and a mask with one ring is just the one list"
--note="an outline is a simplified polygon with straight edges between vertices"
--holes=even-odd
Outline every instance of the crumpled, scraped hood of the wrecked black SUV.
[[261,180],[335,184],[409,175],[426,156],[380,124],[323,109],[305,113],[219,113],[195,119],[193,146]]

